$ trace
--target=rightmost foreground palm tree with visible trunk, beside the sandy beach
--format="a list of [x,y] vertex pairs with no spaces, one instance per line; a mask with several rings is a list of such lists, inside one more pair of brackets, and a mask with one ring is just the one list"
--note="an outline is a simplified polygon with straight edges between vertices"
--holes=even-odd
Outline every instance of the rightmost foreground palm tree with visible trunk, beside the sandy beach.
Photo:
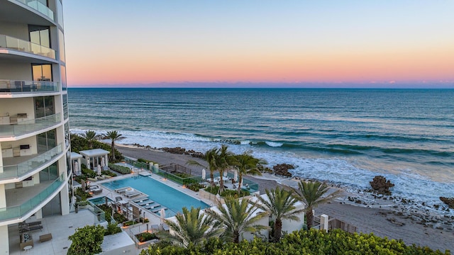
[[336,198],[341,191],[335,191],[328,196],[324,196],[329,191],[326,183],[320,181],[299,181],[298,191],[293,189],[297,194],[296,198],[306,205],[307,229],[311,229],[314,223],[314,213],[312,210],[317,206]]

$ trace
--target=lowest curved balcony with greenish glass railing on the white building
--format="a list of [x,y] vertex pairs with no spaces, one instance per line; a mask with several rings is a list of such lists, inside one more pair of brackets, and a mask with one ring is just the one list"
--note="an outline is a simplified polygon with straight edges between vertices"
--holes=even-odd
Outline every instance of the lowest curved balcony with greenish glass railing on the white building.
[[[65,175],[61,174],[54,181],[44,181],[35,186],[6,190],[6,208],[0,208],[0,221],[13,220],[24,217],[31,210],[42,207],[40,205],[52,193],[65,184]],[[38,194],[33,196],[34,194]],[[25,201],[23,201],[25,199]],[[8,201],[17,205],[8,206]],[[23,202],[22,202],[23,201]]]

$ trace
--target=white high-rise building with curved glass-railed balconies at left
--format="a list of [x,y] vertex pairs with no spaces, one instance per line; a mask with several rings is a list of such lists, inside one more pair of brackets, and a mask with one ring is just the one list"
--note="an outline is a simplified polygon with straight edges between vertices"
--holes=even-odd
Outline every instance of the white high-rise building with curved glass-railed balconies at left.
[[70,212],[62,0],[0,0],[0,254],[9,227]]

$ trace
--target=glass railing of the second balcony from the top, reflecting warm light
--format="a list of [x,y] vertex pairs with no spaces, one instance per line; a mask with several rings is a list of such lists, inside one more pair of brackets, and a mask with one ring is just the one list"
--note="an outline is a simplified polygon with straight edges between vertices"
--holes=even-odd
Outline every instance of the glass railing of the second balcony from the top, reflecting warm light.
[[38,45],[37,43],[13,38],[8,35],[0,35],[0,47],[18,50],[21,52],[28,52],[43,57],[50,57],[51,59],[56,60],[55,50],[52,50],[50,47],[44,47],[42,45]]

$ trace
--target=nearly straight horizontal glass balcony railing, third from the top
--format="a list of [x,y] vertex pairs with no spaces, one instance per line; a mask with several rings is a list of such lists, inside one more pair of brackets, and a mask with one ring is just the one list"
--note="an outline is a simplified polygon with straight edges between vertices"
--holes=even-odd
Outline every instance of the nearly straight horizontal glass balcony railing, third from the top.
[[0,94],[6,93],[45,93],[60,91],[60,82],[57,81],[14,81],[0,79]]

